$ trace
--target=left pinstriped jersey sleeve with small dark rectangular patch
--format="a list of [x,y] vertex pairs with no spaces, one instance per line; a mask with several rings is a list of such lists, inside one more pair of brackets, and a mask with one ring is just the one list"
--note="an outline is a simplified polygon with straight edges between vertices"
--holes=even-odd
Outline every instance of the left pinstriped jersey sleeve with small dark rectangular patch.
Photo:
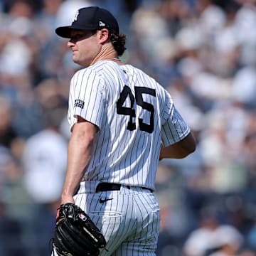
[[68,119],[70,127],[77,122],[78,116],[101,127],[105,112],[104,83],[90,69],[75,73],[70,82]]

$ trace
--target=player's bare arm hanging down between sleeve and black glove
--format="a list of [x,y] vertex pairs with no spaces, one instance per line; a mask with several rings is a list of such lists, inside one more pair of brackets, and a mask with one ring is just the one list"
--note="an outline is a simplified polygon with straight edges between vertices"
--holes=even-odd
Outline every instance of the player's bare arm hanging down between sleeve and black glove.
[[73,125],[68,144],[68,167],[61,195],[61,203],[74,203],[73,196],[93,154],[95,134],[98,129],[95,124],[78,117]]

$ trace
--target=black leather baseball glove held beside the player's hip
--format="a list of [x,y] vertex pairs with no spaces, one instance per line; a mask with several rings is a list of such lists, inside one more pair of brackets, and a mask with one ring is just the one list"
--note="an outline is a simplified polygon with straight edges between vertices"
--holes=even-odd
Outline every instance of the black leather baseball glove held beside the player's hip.
[[90,217],[73,203],[58,208],[53,248],[59,256],[97,256],[106,240]]

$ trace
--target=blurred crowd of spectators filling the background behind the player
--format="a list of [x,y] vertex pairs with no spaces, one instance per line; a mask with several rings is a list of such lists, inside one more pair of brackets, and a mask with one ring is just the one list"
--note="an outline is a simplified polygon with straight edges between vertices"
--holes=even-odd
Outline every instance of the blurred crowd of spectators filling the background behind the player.
[[0,0],[0,255],[50,255],[80,68],[54,30],[92,5],[196,135],[191,156],[159,162],[156,255],[255,256],[256,0]]

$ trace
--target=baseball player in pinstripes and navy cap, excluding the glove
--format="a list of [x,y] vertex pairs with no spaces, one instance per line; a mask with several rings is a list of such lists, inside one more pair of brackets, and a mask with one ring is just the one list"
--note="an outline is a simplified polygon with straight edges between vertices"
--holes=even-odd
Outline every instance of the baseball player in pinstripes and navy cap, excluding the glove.
[[124,64],[126,36],[117,20],[96,6],[79,9],[70,26],[72,132],[61,203],[85,210],[105,235],[100,255],[155,255],[159,206],[154,178],[159,159],[181,159],[196,143],[158,82]]

